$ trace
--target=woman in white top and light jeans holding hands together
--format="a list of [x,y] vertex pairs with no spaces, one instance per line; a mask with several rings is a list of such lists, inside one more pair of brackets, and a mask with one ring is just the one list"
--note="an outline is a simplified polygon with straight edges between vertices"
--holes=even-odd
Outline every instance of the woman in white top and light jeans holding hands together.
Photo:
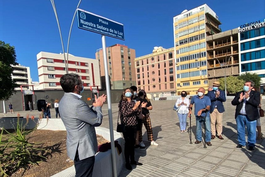
[[188,115],[188,107],[190,105],[189,99],[186,98],[187,92],[182,91],[181,97],[177,99],[175,106],[180,108],[177,111],[179,125],[180,125],[180,132],[186,132],[186,123],[187,123],[187,115]]

